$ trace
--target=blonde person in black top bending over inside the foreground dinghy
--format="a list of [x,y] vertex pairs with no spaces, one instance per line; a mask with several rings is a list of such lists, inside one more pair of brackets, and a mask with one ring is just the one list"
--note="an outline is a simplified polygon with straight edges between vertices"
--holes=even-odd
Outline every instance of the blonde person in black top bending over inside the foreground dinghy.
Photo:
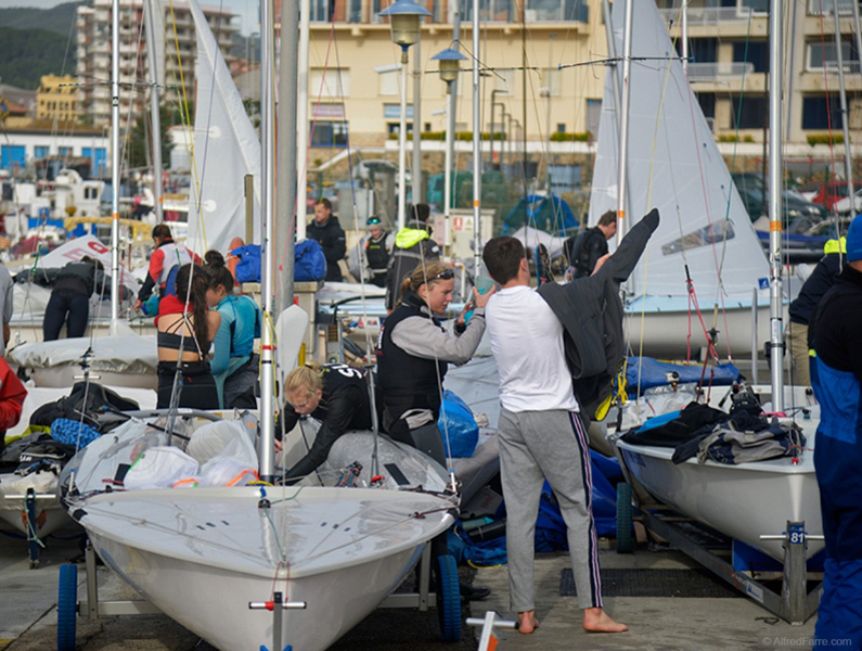
[[369,387],[361,369],[343,363],[306,363],[287,375],[284,394],[287,404],[282,412],[282,432],[293,430],[306,416],[321,422],[311,449],[285,474],[288,482],[314,472],[326,460],[332,444],[348,430],[372,426]]

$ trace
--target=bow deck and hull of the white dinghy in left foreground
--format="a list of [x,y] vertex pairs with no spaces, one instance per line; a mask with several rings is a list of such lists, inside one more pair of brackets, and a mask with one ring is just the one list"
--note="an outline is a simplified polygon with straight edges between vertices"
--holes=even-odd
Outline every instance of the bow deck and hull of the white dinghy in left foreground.
[[[149,601],[223,651],[329,648],[365,617],[452,522],[440,498],[362,488],[195,488],[104,494],[77,518],[101,558]],[[430,511],[430,512],[428,512]],[[428,512],[425,519],[412,518]]]

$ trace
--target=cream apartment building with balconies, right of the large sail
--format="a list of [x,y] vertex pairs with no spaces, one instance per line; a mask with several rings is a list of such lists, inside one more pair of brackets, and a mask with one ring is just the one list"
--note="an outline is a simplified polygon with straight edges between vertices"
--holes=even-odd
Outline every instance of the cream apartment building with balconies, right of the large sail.
[[[852,142],[862,135],[860,77],[852,2],[838,0],[838,34]],[[658,0],[670,34],[680,38],[679,0]],[[785,125],[789,156],[826,154],[832,130],[840,138],[838,48],[833,0],[788,2],[785,8]],[[689,79],[719,140],[762,144],[768,126],[769,1],[690,0]],[[681,46],[678,46],[681,50]],[[812,144],[813,143],[813,144]]]

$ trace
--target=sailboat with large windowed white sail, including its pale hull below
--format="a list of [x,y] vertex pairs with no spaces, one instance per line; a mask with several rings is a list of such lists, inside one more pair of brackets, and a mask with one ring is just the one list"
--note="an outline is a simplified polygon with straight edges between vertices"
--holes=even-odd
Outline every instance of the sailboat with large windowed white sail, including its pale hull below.
[[[628,209],[661,214],[661,225],[631,276],[626,309],[629,345],[654,357],[706,346],[704,330],[719,331],[719,348],[751,350],[769,340],[769,265],[748,214],[719,154],[715,137],[677,60],[666,24],[649,2],[635,0],[631,43],[628,136]],[[654,3],[653,3],[654,4]],[[622,51],[622,5],[614,3],[616,51]],[[609,68],[602,100],[589,224],[617,209],[620,135]],[[689,281],[691,280],[691,285]],[[690,286],[694,293],[690,293]],[[705,328],[692,298],[697,297]],[[713,319],[713,306],[718,318]]]

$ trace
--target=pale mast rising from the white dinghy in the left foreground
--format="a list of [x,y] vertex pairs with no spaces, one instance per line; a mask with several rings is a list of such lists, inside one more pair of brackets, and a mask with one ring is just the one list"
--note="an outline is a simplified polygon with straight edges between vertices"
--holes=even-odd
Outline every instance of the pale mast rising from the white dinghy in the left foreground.
[[[295,34],[287,35],[287,39],[295,38]],[[272,315],[273,296],[272,280],[274,271],[273,245],[273,215],[275,193],[275,152],[274,152],[274,100],[275,76],[273,72],[272,53],[273,9],[272,0],[260,2],[260,192],[261,196],[261,229],[260,235],[260,301],[266,315]],[[290,47],[286,42],[283,47]],[[283,126],[286,128],[286,125]],[[266,321],[266,318],[265,318]],[[273,437],[275,433],[275,359],[273,350],[273,333],[270,326],[261,329],[260,334],[260,444],[258,459],[260,459],[260,478],[269,482],[275,474],[275,458],[273,451]]]

